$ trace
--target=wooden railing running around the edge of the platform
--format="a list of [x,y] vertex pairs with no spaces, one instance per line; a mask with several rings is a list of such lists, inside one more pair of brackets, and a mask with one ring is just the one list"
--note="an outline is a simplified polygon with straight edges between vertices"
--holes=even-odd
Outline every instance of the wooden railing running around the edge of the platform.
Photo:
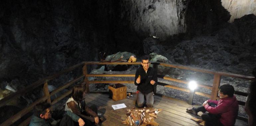
[[[38,88],[39,86],[43,85],[43,92],[44,92],[44,96],[39,98],[38,100],[36,100],[35,102],[33,102],[32,104],[30,104],[28,107],[22,109],[20,112],[16,113],[15,115],[13,115],[12,117],[10,117],[8,120],[6,120],[5,122],[3,122],[0,126],[9,126],[11,124],[13,124],[14,122],[16,122],[18,119],[20,119],[22,116],[24,116],[25,114],[27,114],[28,112],[30,112],[33,107],[42,101],[47,100],[47,102],[51,103],[52,105],[57,103],[58,101],[60,101],[61,99],[63,99],[64,97],[66,97],[67,95],[69,95],[71,93],[72,90],[69,90],[67,92],[65,92],[63,95],[55,98],[53,101],[51,101],[51,96],[57,94],[58,92],[62,91],[63,89],[66,89],[67,87],[69,87],[70,85],[84,79],[82,81],[82,84],[86,85],[86,89],[87,92],[89,93],[89,84],[93,84],[93,83],[129,83],[129,84],[133,84],[134,81],[114,81],[114,80],[110,80],[110,81],[89,81],[88,77],[135,77],[134,74],[88,74],[87,72],[87,65],[140,65],[140,62],[135,62],[135,63],[129,63],[129,62],[81,62],[79,64],[76,64],[74,66],[71,66],[57,74],[54,74],[50,77],[41,79],[31,85],[29,85],[28,87],[21,89],[19,91],[17,91],[14,94],[8,95],[6,97],[4,97],[3,99],[0,100],[0,107],[3,105],[6,105],[8,102],[18,98],[21,95],[24,95],[36,88]],[[191,71],[195,71],[195,72],[202,72],[202,73],[208,73],[208,74],[212,74],[213,75],[213,84],[212,86],[208,86],[208,85],[204,85],[204,84],[199,84],[198,86],[201,88],[206,88],[206,89],[210,89],[211,90],[211,94],[207,94],[207,93],[202,93],[202,92],[195,92],[195,94],[197,95],[202,95],[202,96],[206,96],[209,97],[210,99],[216,99],[217,98],[217,92],[218,92],[218,87],[220,85],[220,79],[222,76],[225,77],[232,77],[232,78],[239,78],[239,79],[244,79],[244,80],[254,80],[254,77],[251,76],[244,76],[244,75],[239,75],[239,74],[231,74],[231,73],[225,73],[225,72],[218,72],[218,71],[212,71],[212,70],[207,70],[207,69],[201,69],[201,68],[195,68],[195,67],[188,67],[188,66],[183,66],[183,65],[177,65],[177,64],[166,64],[166,63],[152,63],[153,67],[157,70],[158,66],[165,66],[165,67],[171,67],[171,68],[179,68],[179,69],[185,69],[185,70],[191,70]],[[48,90],[48,82],[50,80],[53,80],[61,75],[63,75],[64,73],[70,72],[74,69],[77,68],[81,68],[82,67],[82,71],[83,71],[83,75],[77,77],[76,79],[64,84],[63,86],[57,88],[56,90],[52,91],[51,93]],[[175,78],[171,78],[171,77],[167,77],[164,75],[158,75],[158,77],[163,78],[165,80],[169,80],[169,81],[174,81],[174,82],[179,82],[179,83],[183,83],[183,84],[188,84],[187,81],[184,80],[179,80],[179,79],[175,79]],[[181,87],[177,87],[177,86],[172,86],[172,85],[168,85],[168,84],[164,84],[164,83],[159,83],[160,86],[164,86],[164,87],[168,87],[168,88],[172,88],[175,90],[180,90],[180,91],[184,91],[184,92],[190,92],[189,89],[186,88],[181,88]],[[154,93],[156,94],[156,88],[154,90]],[[247,96],[247,93],[243,93],[243,92],[238,92],[235,91],[235,94],[237,95],[243,95],[243,96]],[[244,105],[243,101],[239,101],[239,104]],[[26,119],[23,123],[21,123],[20,125],[28,125],[30,122],[31,117],[29,117],[28,119]]]

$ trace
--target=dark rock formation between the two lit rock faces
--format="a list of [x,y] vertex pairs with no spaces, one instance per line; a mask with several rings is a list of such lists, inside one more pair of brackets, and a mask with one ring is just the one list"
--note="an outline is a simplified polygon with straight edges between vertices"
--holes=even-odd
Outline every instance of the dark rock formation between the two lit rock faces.
[[189,36],[211,35],[230,18],[220,0],[187,0],[186,3],[185,24]]

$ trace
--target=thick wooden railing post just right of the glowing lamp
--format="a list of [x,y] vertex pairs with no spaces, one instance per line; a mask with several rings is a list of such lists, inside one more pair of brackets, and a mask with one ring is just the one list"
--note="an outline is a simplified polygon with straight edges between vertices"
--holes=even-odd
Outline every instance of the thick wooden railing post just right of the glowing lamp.
[[217,95],[218,95],[218,89],[219,89],[219,84],[220,84],[220,75],[214,74],[213,77],[213,84],[212,84],[212,89],[211,89],[211,100],[216,100]]

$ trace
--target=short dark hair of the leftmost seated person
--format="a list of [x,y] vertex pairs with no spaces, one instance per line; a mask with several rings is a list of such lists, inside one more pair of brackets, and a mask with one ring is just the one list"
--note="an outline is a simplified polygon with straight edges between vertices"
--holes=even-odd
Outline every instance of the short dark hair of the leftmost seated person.
[[47,102],[40,102],[34,107],[34,115],[40,118],[41,114],[46,113],[46,109],[50,108],[51,104]]

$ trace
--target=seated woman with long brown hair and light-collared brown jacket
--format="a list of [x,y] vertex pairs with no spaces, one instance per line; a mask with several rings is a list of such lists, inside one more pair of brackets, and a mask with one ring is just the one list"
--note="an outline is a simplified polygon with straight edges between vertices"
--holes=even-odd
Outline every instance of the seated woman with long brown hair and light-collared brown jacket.
[[99,123],[97,114],[97,107],[88,107],[85,104],[85,87],[83,85],[76,85],[73,88],[71,97],[66,101],[65,111],[71,111],[80,116],[86,126],[92,126]]

